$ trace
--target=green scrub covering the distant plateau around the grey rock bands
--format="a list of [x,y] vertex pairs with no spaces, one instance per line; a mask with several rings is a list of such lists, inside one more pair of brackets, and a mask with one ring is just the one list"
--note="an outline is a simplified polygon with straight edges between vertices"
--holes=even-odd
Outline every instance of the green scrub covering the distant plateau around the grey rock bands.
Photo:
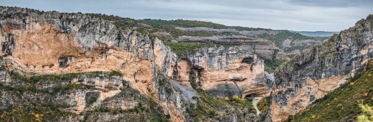
[[[213,35],[241,35],[237,32],[226,32],[226,33],[216,33],[216,32],[209,32],[209,31],[182,31],[175,29],[175,27],[184,27],[184,28],[191,28],[191,27],[207,27],[207,28],[214,28],[214,29],[235,29],[237,31],[259,31],[259,30],[266,30],[270,31],[270,29],[262,29],[262,28],[248,28],[248,27],[239,27],[239,26],[225,26],[222,24],[216,24],[212,22],[204,22],[204,21],[192,21],[192,20],[161,20],[161,19],[142,19],[142,20],[135,20],[131,18],[124,18],[114,15],[101,15],[101,14],[88,14],[91,17],[98,17],[104,20],[108,20],[114,23],[118,28],[122,29],[131,29],[134,31],[138,31],[143,34],[148,34],[150,37],[155,37],[153,35],[154,32],[167,32],[170,33],[173,38],[178,38],[179,36],[213,36]],[[136,27],[136,28],[134,28]],[[303,39],[315,39],[323,41],[327,37],[309,37],[297,32],[290,32],[290,31],[280,31],[278,34],[270,35],[268,33],[252,36],[254,38],[264,38],[274,42],[276,46],[281,46],[286,39],[293,39],[293,40],[303,40]],[[121,37],[118,36],[118,39]],[[179,44],[173,43],[169,40],[165,39],[165,37],[157,37],[160,38],[165,45],[171,46],[171,49],[175,51],[177,54],[181,54],[180,56],[184,56],[185,54],[189,54],[190,52],[194,52],[195,48],[200,48],[204,46],[213,46],[214,44],[201,44],[201,43],[192,43],[192,44]],[[191,49],[189,49],[189,47]],[[187,48],[187,50],[185,50]],[[287,52],[290,52],[295,49],[302,50],[302,46],[294,46],[288,48]]]

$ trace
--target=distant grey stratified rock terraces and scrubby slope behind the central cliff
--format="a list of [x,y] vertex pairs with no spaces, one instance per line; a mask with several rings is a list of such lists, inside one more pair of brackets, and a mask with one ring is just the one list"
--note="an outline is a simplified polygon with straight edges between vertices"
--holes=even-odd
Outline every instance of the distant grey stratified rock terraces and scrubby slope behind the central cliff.
[[[236,29],[214,29],[207,27],[182,28],[176,30],[190,32],[210,32],[213,36],[179,36],[177,40],[186,42],[209,42],[215,44],[235,44],[249,50],[265,61],[288,60],[299,54],[306,47],[321,43],[320,39],[307,37],[296,32],[274,31],[266,29],[251,29],[237,31]],[[239,28],[238,28],[239,30]],[[164,35],[168,38],[169,36]]]

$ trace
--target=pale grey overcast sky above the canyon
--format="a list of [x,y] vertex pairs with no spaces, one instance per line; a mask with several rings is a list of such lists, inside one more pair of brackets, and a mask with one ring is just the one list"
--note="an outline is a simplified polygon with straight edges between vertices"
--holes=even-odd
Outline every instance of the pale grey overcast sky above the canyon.
[[0,5],[293,31],[341,31],[373,14],[373,0],[0,0]]

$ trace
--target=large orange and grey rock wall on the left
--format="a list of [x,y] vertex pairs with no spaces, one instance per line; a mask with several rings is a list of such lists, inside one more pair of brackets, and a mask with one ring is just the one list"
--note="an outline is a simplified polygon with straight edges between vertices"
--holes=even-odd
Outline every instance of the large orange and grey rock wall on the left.
[[176,106],[181,101],[170,100],[175,97],[172,94],[160,95],[164,87],[156,78],[158,74],[172,74],[176,62],[176,55],[160,40],[86,14],[9,7],[1,7],[0,14],[1,55],[7,55],[7,69],[28,76],[119,71],[122,79],[142,95],[168,104],[164,109],[171,120],[183,120],[181,112],[175,110],[181,107]]

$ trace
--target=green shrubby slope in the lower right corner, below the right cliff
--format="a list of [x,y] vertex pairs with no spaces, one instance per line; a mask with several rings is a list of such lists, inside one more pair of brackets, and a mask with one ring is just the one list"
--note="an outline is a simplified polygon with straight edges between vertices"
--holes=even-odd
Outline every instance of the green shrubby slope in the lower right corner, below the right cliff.
[[373,105],[373,61],[338,89],[289,116],[289,122],[353,121],[361,113],[357,101]]

